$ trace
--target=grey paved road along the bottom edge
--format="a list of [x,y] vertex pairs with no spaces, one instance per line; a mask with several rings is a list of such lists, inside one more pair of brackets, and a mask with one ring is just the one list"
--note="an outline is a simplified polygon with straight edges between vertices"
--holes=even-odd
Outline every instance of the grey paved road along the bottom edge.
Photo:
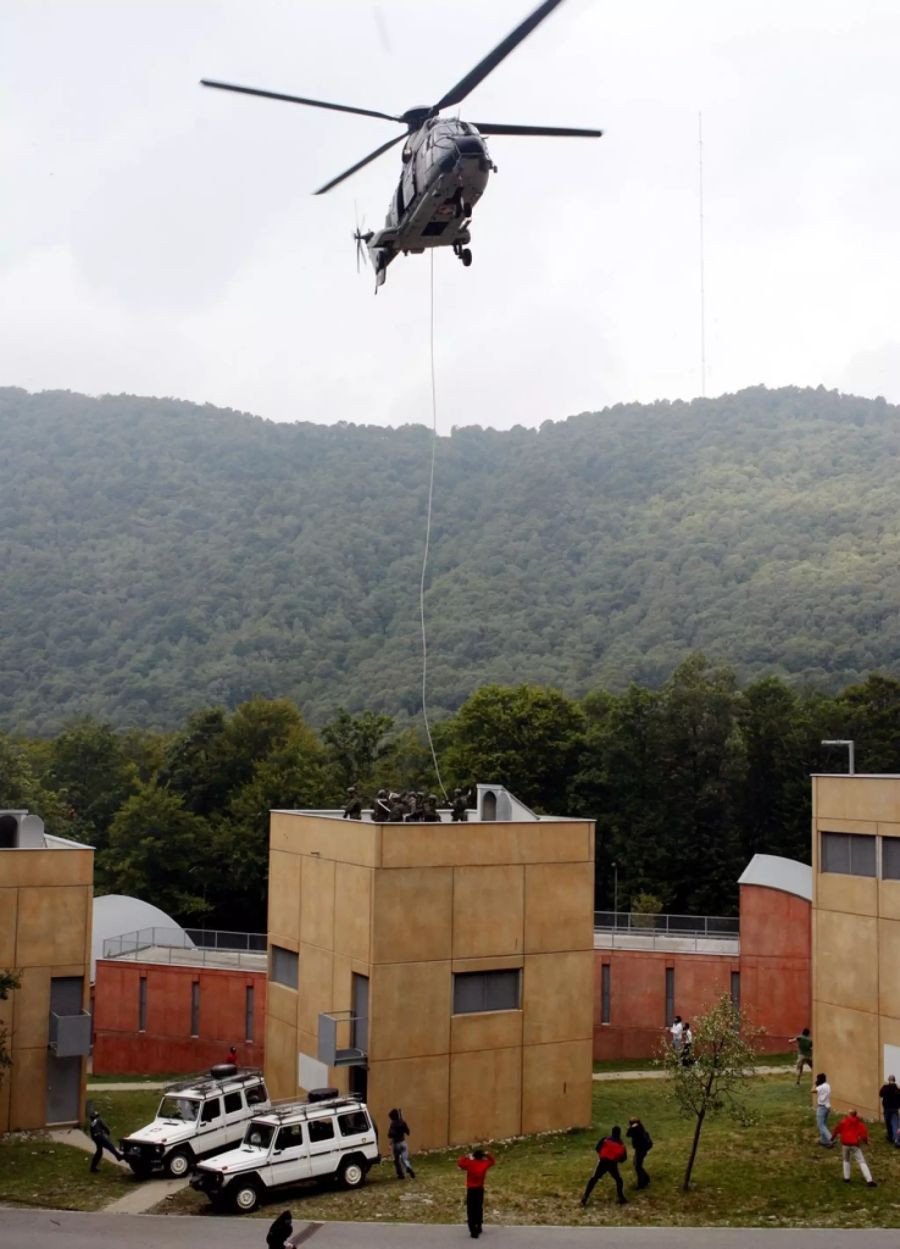
[[[466,1228],[295,1223],[302,1249],[454,1249]],[[268,1220],[0,1209],[0,1249],[265,1249]],[[484,1228],[488,1249],[895,1249],[898,1232],[743,1228]]]

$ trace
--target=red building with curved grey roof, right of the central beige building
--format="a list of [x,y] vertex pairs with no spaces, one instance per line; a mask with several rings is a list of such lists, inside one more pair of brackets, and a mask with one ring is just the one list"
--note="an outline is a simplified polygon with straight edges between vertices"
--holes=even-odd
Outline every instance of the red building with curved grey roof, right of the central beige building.
[[657,916],[598,927],[595,1059],[654,1055],[675,1014],[690,1019],[724,993],[765,1028],[769,1053],[809,1027],[811,869],[756,854],[739,884],[739,922]]

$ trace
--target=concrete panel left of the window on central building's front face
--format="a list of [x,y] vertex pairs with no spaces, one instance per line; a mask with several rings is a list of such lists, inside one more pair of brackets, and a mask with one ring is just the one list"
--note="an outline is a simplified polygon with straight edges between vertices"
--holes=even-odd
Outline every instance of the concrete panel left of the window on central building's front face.
[[371,1058],[448,1053],[451,993],[448,962],[376,963],[368,1002]]

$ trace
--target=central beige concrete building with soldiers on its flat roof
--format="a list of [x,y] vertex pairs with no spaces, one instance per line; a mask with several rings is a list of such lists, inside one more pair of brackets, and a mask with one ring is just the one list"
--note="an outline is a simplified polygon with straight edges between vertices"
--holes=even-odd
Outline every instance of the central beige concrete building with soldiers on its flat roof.
[[593,822],[497,786],[467,823],[340,814],[271,817],[272,1095],[399,1105],[419,1149],[589,1124]]

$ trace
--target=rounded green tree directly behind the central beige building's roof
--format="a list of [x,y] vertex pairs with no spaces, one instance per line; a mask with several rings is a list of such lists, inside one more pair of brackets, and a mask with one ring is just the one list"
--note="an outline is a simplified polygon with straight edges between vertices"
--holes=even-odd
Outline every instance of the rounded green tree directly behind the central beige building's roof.
[[484,686],[447,726],[441,759],[458,784],[492,781],[536,811],[567,814],[584,748],[582,709],[558,689]]

